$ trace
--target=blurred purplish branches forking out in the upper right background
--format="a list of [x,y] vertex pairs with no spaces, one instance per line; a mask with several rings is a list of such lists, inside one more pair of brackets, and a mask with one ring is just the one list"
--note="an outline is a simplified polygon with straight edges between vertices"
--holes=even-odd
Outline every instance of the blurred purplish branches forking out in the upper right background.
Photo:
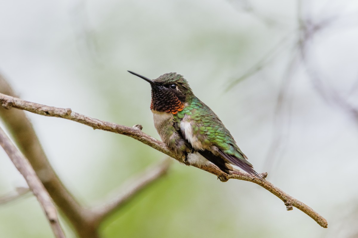
[[[268,171],[271,171],[275,162],[280,162],[280,152],[284,150],[287,144],[287,140],[283,139],[289,132],[291,119],[290,105],[292,103],[292,100],[287,98],[287,95],[289,95],[289,85],[292,83],[292,72],[300,66],[304,67],[308,77],[310,78],[310,82],[319,96],[321,96],[326,102],[333,103],[333,105],[338,106],[340,110],[343,110],[347,113],[347,115],[351,116],[355,122],[358,122],[358,107],[352,105],[352,103],[340,95],[333,86],[330,86],[327,83],[327,80],[325,81],[319,72],[315,70],[318,67],[313,66],[314,61],[310,61],[308,57],[309,43],[316,34],[329,29],[329,27],[332,28],[334,25],[336,25],[335,31],[332,34],[337,34],[337,30],[347,30],[351,27],[356,27],[357,25],[352,24],[352,22],[356,21],[354,19],[358,18],[358,14],[357,12],[349,12],[344,15],[337,14],[323,17],[323,14],[326,13],[326,8],[329,5],[327,2],[320,11],[319,15],[322,15],[321,20],[314,22],[313,17],[306,12],[307,9],[311,9],[311,7],[308,7],[310,3],[310,1],[297,0],[297,29],[284,36],[278,44],[274,45],[274,47],[272,47],[269,52],[262,57],[261,60],[250,67],[236,80],[229,83],[229,86],[226,88],[228,91],[242,80],[248,79],[252,75],[257,74],[261,70],[268,67],[269,64],[272,64],[274,60],[277,60],[278,56],[282,54],[285,49],[292,48],[292,57],[289,64],[287,64],[286,72],[284,73],[282,85],[277,97],[273,125],[274,133],[265,159],[265,168]],[[292,43],[289,41],[290,37],[294,37]],[[358,79],[356,83],[352,85],[351,92],[355,91],[357,85]],[[284,103],[286,103],[286,105],[284,105]]]

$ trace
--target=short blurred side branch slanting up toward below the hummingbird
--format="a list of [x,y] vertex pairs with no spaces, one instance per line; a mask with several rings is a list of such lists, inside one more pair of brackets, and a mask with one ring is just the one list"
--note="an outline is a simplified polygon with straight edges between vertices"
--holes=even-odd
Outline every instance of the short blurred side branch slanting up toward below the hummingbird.
[[116,198],[111,198],[106,202],[101,202],[101,205],[92,209],[96,217],[96,224],[100,224],[105,218],[110,216],[113,212],[118,211],[128,201],[130,201],[139,192],[147,188],[152,183],[158,181],[167,171],[170,166],[171,159],[164,159],[159,164],[147,168],[144,172],[130,179],[120,189],[120,194]]

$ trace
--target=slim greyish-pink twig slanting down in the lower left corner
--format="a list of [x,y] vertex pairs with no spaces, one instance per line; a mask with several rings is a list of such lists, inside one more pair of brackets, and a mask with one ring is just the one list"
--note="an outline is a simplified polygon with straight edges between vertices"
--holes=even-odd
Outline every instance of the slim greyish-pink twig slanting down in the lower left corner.
[[50,198],[50,195],[48,194],[40,179],[37,177],[29,161],[20,153],[20,151],[18,151],[18,149],[10,141],[9,137],[6,136],[1,127],[0,145],[4,148],[5,152],[8,154],[18,171],[22,174],[22,176],[24,176],[26,183],[39,201],[47,216],[48,221],[50,222],[55,237],[65,238],[65,235],[58,221],[56,208],[52,199]]

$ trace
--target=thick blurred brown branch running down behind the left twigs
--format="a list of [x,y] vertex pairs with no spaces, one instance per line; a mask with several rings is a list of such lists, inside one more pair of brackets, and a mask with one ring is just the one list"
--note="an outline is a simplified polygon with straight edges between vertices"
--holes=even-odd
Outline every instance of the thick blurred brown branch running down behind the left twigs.
[[[0,75],[0,92],[15,96],[14,90],[2,75]],[[9,111],[0,107],[0,117],[3,119],[12,139],[29,160],[56,205],[66,214],[72,226],[74,226],[76,231],[80,232],[79,234],[82,236],[82,231],[85,232],[89,230],[88,222],[83,220],[82,217],[91,220],[91,214],[80,206],[54,172],[34,128],[24,111]],[[92,231],[90,234],[95,234],[95,231]],[[89,236],[90,234],[83,234],[83,237]]]

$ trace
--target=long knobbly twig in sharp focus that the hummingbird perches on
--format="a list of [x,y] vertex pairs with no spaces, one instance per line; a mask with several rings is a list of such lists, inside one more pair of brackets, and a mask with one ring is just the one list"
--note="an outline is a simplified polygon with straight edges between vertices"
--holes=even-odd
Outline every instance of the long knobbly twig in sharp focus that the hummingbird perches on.
[[[90,126],[93,129],[100,129],[100,130],[111,131],[122,135],[126,135],[135,138],[136,140],[141,141],[142,143],[145,143],[146,145],[149,145],[154,149],[161,151],[180,162],[183,162],[183,155],[177,155],[173,151],[169,150],[169,148],[166,147],[166,145],[163,142],[158,141],[155,138],[143,133],[140,130],[141,128],[138,126],[128,127],[128,126],[118,125],[112,122],[101,121],[92,117],[79,114],[77,112],[72,112],[70,108],[50,107],[34,102],[21,100],[19,98],[14,98],[8,95],[4,95],[2,93],[0,93],[0,102],[5,108],[8,109],[10,109],[11,107],[15,107],[44,116],[62,117],[68,120],[77,121],[84,125]],[[303,211],[304,213],[308,214],[308,216],[313,218],[320,226],[325,228],[328,226],[327,221],[322,216],[320,216],[317,212],[315,212],[312,208],[308,207],[304,203],[284,193],[281,189],[277,188],[270,182],[267,181],[263,182],[257,177],[251,176],[250,174],[246,174],[246,173],[234,173],[229,175],[222,172],[219,168],[217,168],[214,165],[195,166],[195,167],[203,169],[209,173],[215,174],[223,182],[227,181],[230,178],[235,178],[235,179],[256,183],[261,187],[265,188],[266,190],[270,191],[278,198],[280,198],[285,203],[287,210],[292,210],[292,207],[296,207],[301,211]]]

